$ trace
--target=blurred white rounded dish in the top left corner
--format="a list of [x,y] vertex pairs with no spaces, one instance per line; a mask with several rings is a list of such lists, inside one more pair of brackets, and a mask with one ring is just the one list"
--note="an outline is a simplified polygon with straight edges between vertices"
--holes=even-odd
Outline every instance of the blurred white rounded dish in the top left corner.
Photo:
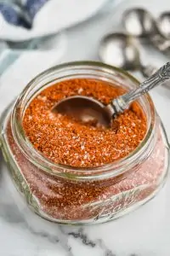
[[[22,2],[26,1],[29,0]],[[30,2],[35,6],[34,1]],[[4,19],[4,14],[0,12],[0,39],[22,41],[59,32],[92,17],[105,5],[105,2],[106,0],[48,0],[34,16],[31,29],[8,23]],[[5,9],[5,12],[7,13],[8,9]]]

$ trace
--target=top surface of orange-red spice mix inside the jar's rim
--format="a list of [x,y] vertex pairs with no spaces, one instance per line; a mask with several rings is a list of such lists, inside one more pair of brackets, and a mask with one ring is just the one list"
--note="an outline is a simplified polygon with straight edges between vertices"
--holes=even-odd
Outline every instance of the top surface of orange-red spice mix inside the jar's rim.
[[34,148],[57,164],[90,167],[120,160],[144,138],[146,119],[139,104],[133,103],[112,121],[109,129],[52,113],[51,108],[67,96],[93,96],[107,104],[124,92],[116,85],[93,79],[70,79],[54,84],[42,90],[26,109],[23,119],[26,136]]

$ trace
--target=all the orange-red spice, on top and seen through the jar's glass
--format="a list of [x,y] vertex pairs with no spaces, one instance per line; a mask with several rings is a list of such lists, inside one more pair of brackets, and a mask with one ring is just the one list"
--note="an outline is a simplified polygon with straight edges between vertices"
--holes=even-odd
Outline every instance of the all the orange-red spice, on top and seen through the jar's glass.
[[[111,129],[53,114],[51,108],[65,96],[94,96],[107,104],[122,93],[122,88],[98,80],[71,79],[54,84],[42,90],[26,109],[26,136],[56,163],[100,166],[120,160],[139,145],[146,132],[146,119],[137,103],[114,119]],[[116,177],[79,180],[44,172],[34,165],[16,143],[9,119],[8,145],[18,168],[11,166],[11,176],[31,209],[43,218],[65,223],[105,221],[153,195],[166,177],[167,149],[159,123],[155,133],[150,154],[137,160],[133,169]]]

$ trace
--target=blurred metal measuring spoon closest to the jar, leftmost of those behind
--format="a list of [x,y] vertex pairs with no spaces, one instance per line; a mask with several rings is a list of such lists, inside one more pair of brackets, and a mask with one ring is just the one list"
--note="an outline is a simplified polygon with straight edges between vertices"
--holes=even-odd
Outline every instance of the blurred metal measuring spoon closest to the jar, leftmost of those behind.
[[101,61],[125,70],[139,70],[148,78],[156,71],[156,67],[144,66],[140,61],[139,49],[133,38],[125,33],[115,32],[106,35],[99,45]]

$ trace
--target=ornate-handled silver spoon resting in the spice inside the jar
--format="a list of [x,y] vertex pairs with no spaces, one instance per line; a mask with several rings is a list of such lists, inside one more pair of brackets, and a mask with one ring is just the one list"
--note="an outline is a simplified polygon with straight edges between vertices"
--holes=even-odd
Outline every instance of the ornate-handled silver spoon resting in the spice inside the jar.
[[111,119],[129,108],[131,102],[139,96],[144,95],[165,80],[170,79],[170,62],[167,62],[149,79],[146,79],[135,90],[130,90],[126,94],[117,97],[110,104],[104,106],[101,102],[88,96],[71,96],[58,102],[53,112],[71,114],[71,116],[81,121],[97,120],[99,125],[109,127]]

